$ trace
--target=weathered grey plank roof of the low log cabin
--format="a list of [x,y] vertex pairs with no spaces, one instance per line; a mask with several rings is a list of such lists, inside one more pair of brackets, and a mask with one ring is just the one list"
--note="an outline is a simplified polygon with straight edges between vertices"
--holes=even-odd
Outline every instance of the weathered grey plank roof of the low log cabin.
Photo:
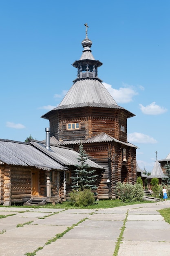
[[[79,153],[63,146],[51,146],[48,150],[41,141],[29,143],[0,139],[0,164],[32,166],[46,171],[67,170],[78,164]],[[87,159],[91,168],[102,169],[95,162]]]

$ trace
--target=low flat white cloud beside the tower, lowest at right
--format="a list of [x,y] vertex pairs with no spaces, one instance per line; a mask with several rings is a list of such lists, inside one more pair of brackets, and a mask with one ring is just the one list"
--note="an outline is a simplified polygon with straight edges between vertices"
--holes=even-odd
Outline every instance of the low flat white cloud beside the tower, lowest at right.
[[142,144],[155,144],[157,140],[140,132],[133,132],[128,134],[128,141],[131,143],[142,143]]

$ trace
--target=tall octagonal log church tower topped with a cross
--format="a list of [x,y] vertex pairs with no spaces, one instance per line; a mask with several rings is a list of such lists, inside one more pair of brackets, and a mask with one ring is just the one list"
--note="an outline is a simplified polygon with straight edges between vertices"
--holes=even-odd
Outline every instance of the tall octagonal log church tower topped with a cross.
[[72,64],[77,78],[60,105],[42,118],[49,119],[52,144],[76,151],[84,144],[89,158],[104,168],[98,179],[98,199],[115,199],[117,182],[135,184],[137,179],[137,146],[127,141],[127,119],[135,115],[118,106],[99,79],[102,63],[93,57],[85,25],[83,53]]

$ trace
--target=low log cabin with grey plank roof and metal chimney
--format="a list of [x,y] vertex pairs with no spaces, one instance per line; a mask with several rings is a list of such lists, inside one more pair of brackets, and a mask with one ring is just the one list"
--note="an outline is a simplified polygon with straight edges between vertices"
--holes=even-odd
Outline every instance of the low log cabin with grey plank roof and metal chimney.
[[[78,156],[71,148],[49,147],[49,143],[42,141],[0,139],[0,204],[66,201],[71,190],[70,173],[78,164]],[[96,173],[103,171],[90,159],[87,164]]]

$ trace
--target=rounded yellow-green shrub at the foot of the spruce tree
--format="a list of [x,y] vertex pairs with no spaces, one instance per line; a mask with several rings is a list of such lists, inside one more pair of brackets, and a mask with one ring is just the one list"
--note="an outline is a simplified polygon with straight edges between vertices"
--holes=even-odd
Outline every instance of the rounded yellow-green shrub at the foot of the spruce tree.
[[76,207],[87,206],[95,202],[94,193],[91,192],[91,189],[84,189],[84,191],[73,190],[69,193],[69,196],[70,204]]

